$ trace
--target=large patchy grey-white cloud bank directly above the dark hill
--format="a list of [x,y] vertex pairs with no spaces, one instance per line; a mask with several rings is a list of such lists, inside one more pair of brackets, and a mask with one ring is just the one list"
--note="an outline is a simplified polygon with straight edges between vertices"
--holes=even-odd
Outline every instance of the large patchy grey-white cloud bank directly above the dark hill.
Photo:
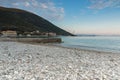
[[49,20],[64,18],[64,8],[56,6],[52,0],[0,0],[0,5],[28,10]]

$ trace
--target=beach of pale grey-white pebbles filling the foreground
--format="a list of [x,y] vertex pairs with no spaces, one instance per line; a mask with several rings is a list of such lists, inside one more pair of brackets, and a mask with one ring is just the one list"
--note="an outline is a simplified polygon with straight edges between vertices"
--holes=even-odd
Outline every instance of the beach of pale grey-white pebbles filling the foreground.
[[119,53],[0,41],[0,80],[119,79]]

